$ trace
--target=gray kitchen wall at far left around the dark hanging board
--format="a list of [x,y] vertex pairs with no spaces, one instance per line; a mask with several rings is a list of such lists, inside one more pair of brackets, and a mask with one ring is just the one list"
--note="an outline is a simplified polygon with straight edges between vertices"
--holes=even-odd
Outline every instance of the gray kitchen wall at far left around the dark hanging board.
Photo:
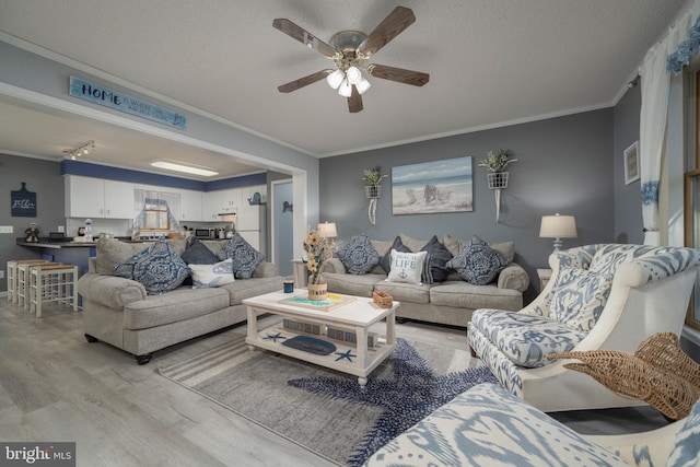
[[[22,188],[36,192],[36,218],[13,218],[10,210],[10,192]],[[0,269],[5,271],[11,259],[38,258],[36,248],[16,246],[16,237],[23,237],[30,222],[36,222],[42,236],[56,232],[66,224],[63,217],[63,177],[58,162],[0,154],[0,225],[12,225],[14,233],[0,234]],[[0,292],[8,290],[8,281],[0,280]]]

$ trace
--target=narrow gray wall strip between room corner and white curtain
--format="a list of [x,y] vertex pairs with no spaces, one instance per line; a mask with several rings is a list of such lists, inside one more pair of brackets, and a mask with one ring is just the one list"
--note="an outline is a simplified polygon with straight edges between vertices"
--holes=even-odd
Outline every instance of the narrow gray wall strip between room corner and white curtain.
[[622,153],[639,140],[639,115],[642,107],[641,86],[629,90],[615,106],[615,240],[619,243],[643,243],[642,195],[640,182],[625,185]]

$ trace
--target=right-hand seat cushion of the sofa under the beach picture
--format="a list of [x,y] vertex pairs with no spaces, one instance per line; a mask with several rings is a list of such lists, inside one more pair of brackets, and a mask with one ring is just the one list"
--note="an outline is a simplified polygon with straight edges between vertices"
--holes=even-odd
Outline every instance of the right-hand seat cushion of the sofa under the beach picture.
[[517,311],[523,307],[523,295],[513,289],[495,284],[474,285],[463,280],[435,283],[430,289],[430,303],[453,308],[497,308]]

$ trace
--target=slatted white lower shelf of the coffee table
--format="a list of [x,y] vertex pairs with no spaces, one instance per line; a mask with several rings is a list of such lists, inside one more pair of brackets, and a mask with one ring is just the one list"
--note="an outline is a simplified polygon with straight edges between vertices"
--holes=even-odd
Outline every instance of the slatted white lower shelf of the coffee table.
[[[272,336],[279,336],[273,338]],[[327,355],[317,355],[304,350],[294,349],[292,347],[282,346],[284,340],[296,336],[308,336],[317,339],[327,340],[336,346],[336,351]],[[254,338],[247,337],[246,343],[250,350],[264,349],[282,355],[288,355],[319,366],[336,370],[342,373],[358,376],[360,386],[368,384],[368,377],[396,348],[396,342],[387,343],[380,339],[376,347],[371,347],[365,352],[365,362],[361,361],[361,352],[358,347],[350,342],[337,341],[328,339],[326,336],[307,335],[304,332],[294,332],[281,326],[272,326],[258,331]]]

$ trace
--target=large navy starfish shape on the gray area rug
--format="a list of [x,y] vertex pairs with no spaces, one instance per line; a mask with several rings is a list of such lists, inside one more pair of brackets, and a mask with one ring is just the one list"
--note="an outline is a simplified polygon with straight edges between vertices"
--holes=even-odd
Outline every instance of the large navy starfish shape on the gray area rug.
[[389,380],[370,378],[362,387],[355,377],[318,376],[291,380],[289,385],[325,397],[384,407],[374,427],[363,436],[348,459],[362,465],[384,444],[402,433],[436,408],[480,383],[498,383],[488,366],[435,376],[425,360],[405,339],[396,339]]

